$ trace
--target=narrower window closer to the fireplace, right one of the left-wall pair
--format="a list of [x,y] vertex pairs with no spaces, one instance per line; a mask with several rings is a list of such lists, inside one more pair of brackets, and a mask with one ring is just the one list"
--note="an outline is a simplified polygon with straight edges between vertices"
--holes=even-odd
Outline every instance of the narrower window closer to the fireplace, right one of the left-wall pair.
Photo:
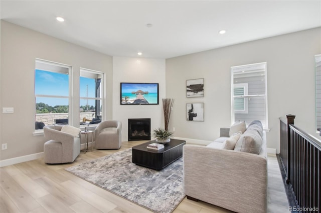
[[103,73],[80,69],[80,124],[97,125],[102,117]]

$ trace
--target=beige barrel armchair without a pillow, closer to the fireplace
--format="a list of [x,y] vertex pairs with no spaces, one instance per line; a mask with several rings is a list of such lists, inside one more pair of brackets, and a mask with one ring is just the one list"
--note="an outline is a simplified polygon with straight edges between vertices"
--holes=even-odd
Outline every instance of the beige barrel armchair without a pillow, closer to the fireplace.
[[121,122],[105,120],[95,129],[95,146],[97,149],[118,149],[121,146]]

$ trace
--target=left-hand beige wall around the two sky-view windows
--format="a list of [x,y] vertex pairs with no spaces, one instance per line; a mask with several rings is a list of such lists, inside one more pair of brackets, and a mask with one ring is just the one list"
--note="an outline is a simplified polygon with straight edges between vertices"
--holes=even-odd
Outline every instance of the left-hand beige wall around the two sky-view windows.
[[[0,114],[1,160],[43,152],[45,138],[34,136],[35,130],[35,59],[41,58],[71,65],[74,74],[74,122],[79,117],[80,67],[102,71],[106,74],[106,99],[111,100],[112,58],[73,43],[6,21],[1,21],[1,83],[2,107],[14,107],[13,114]],[[112,117],[111,101],[106,101],[106,119]]]

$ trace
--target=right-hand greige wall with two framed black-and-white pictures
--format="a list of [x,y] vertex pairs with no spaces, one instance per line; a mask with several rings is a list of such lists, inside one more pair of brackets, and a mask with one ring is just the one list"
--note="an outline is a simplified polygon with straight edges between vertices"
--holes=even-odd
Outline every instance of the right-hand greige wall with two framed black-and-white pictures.
[[[314,55],[321,53],[321,28],[260,39],[166,60],[166,96],[175,98],[170,128],[175,136],[213,140],[231,125],[231,74],[236,65],[267,62],[267,146],[279,152],[279,119],[315,133]],[[204,78],[205,97],[186,97],[186,80]],[[204,102],[204,122],[186,120],[186,103]]]

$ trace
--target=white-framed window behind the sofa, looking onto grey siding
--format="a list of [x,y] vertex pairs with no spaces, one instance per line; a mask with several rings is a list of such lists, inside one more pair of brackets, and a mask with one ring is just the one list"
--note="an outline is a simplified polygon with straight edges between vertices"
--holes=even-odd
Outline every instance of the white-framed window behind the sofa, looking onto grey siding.
[[231,67],[232,123],[260,120],[268,128],[266,80],[266,62]]

